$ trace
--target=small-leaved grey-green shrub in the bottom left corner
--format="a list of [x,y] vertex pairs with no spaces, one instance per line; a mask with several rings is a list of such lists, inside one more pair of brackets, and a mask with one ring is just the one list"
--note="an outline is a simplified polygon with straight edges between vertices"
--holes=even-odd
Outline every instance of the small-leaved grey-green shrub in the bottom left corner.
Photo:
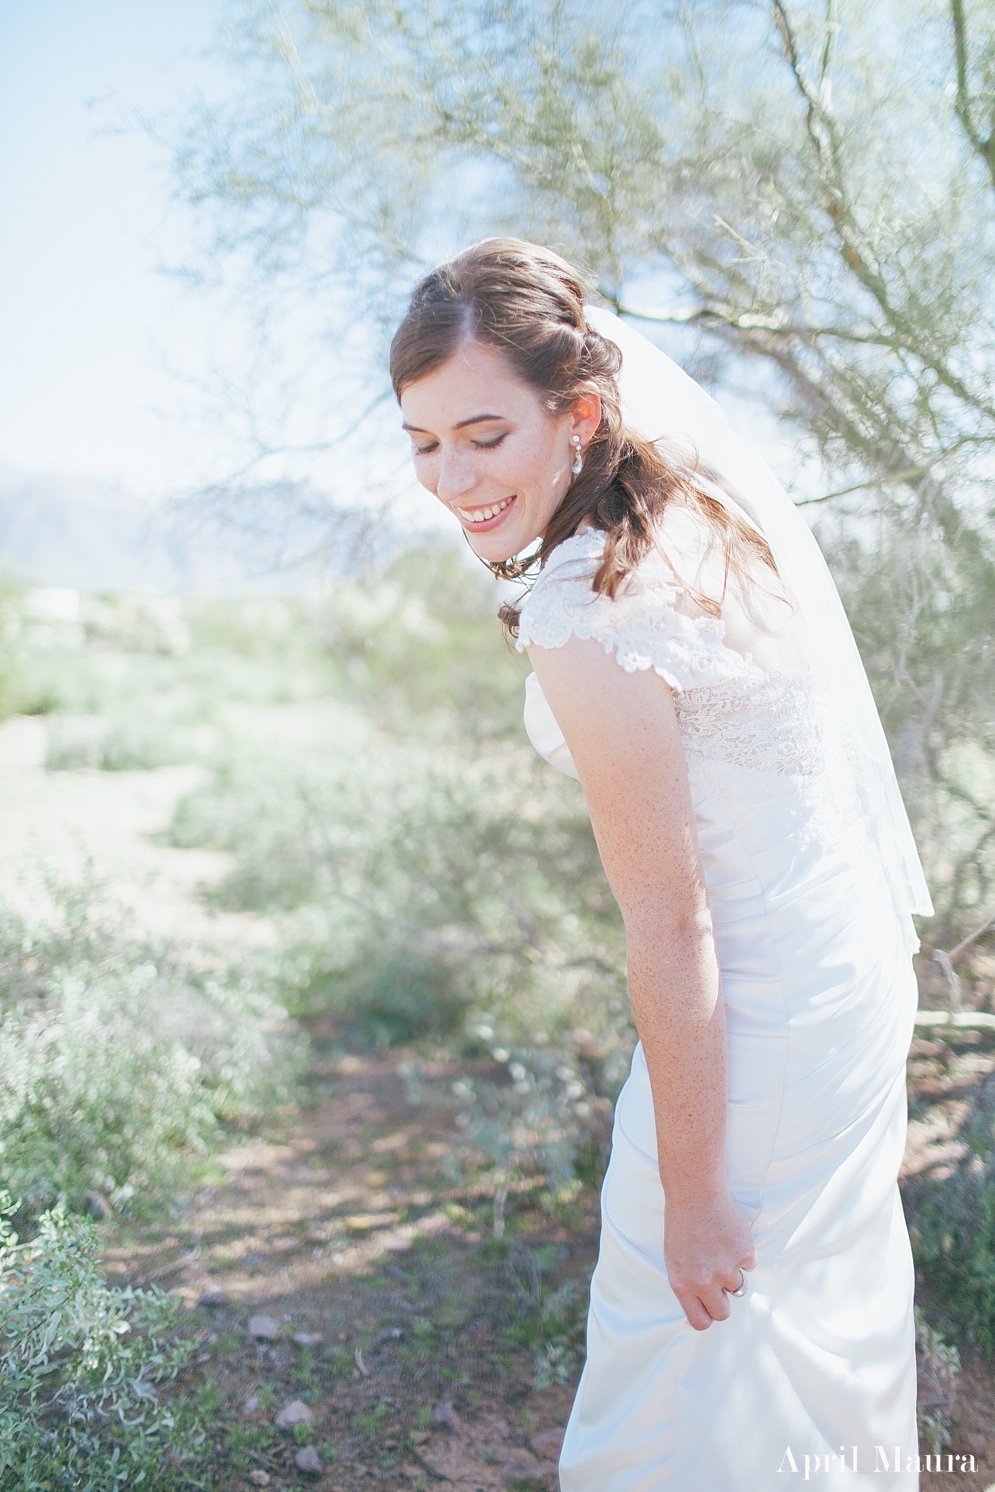
[[203,1440],[166,1392],[194,1349],[178,1303],[107,1285],[92,1225],[63,1206],[28,1243],[12,1212],[0,1197],[0,1489],[173,1485]]

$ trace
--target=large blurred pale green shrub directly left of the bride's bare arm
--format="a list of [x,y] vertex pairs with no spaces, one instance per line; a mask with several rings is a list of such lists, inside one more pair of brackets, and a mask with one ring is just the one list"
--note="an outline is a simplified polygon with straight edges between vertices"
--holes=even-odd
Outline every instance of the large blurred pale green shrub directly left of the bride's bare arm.
[[621,918],[577,785],[527,743],[354,727],[334,759],[230,767],[181,804],[175,841],[234,855],[222,906],[282,918],[292,1010],[416,1044],[412,1097],[492,1170],[500,1232],[518,1179],[600,1168],[633,1047]]

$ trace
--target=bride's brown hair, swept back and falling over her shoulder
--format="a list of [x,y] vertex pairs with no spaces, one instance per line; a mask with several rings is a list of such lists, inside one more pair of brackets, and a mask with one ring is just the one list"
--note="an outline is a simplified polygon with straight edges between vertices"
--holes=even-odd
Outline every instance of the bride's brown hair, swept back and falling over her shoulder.
[[[544,395],[550,415],[564,413],[592,380],[601,394],[601,424],[585,452],[583,470],[542,534],[528,561],[504,560],[488,567],[503,579],[519,579],[542,567],[556,545],[588,519],[606,534],[595,591],[609,597],[653,548],[667,503],[697,509],[721,537],[726,574],[746,574],[750,558],[776,573],[759,533],[694,482],[694,471],[671,467],[656,446],[622,422],[616,374],[622,354],[586,324],[580,275],[552,249],[522,239],[483,239],[440,264],[416,286],[391,343],[391,379],[401,397],[409,383],[442,367],[467,339],[498,348],[515,372]],[[694,594],[694,592],[692,592]],[[719,615],[721,603],[695,600]],[[515,612],[501,610],[513,627]]]

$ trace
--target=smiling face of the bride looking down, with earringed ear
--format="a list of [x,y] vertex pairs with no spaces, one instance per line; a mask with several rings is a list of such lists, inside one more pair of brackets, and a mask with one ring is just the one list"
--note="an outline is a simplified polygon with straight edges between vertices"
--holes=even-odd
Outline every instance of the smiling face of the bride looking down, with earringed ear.
[[571,482],[580,437],[601,421],[594,383],[562,415],[497,348],[464,342],[401,392],[415,473],[462,524],[482,560],[510,560],[544,531]]

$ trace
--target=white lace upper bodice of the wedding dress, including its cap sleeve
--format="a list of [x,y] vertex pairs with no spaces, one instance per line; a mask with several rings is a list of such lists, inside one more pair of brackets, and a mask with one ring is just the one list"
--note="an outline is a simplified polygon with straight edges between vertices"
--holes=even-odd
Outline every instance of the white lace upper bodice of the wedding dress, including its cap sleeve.
[[[652,552],[616,600],[594,592],[603,548],[604,534],[588,530],[553,551],[522,606],[518,646],[562,648],[570,636],[594,639],[628,673],[653,668],[674,691],[689,765],[713,761],[779,776],[822,774],[823,731],[807,670],[761,667],[750,652],[728,646],[725,622],[701,610],[662,554]],[[530,683],[530,737],[543,756],[570,771],[562,736]]]

